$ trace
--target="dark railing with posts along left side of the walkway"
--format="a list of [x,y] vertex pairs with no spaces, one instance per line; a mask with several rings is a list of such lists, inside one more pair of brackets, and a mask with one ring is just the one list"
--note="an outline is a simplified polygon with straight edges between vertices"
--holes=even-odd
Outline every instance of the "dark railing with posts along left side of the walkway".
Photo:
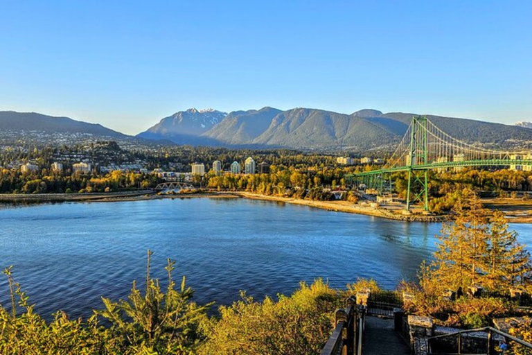
[[349,297],[345,309],[335,313],[335,330],[321,350],[321,355],[362,355],[366,306]]

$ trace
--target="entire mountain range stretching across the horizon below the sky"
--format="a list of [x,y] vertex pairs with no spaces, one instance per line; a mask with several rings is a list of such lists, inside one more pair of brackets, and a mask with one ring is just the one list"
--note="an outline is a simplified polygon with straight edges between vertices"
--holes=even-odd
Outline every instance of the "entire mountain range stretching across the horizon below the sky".
[[[225,113],[213,109],[176,112],[136,138],[180,145],[227,146],[234,148],[294,148],[316,150],[393,150],[417,114],[360,110],[341,114],[326,110],[294,108]],[[481,144],[523,146],[532,143],[532,130],[503,125],[427,115],[448,135]],[[102,125],[37,113],[0,112],[0,130],[82,132],[95,136],[131,138]]]

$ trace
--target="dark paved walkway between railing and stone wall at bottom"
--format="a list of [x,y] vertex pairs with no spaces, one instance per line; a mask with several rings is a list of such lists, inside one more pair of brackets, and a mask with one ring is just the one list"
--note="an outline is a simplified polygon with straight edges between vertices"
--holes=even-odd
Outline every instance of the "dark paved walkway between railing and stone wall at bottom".
[[366,317],[366,338],[362,346],[364,355],[411,354],[405,340],[393,330],[392,319]]

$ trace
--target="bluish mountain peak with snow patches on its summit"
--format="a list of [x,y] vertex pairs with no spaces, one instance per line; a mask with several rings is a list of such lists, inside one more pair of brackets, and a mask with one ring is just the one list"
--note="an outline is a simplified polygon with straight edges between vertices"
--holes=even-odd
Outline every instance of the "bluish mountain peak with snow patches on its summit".
[[191,108],[161,119],[159,123],[136,137],[145,139],[168,139],[177,144],[216,145],[211,139],[199,137],[217,125],[227,113],[213,109]]

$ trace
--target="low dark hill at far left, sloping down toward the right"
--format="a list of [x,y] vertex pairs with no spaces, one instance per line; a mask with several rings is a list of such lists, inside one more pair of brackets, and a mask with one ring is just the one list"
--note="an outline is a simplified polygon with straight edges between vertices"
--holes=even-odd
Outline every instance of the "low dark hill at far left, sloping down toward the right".
[[95,136],[127,137],[103,125],[75,121],[68,117],[46,116],[35,112],[0,111],[0,130],[41,131],[45,133],[88,133]]

